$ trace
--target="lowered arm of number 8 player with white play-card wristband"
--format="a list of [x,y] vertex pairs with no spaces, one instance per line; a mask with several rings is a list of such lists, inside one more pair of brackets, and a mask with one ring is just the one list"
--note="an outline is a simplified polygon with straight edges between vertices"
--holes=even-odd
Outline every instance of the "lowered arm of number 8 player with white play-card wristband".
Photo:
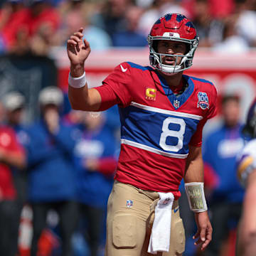
[[195,213],[198,230],[193,236],[195,245],[205,250],[212,239],[213,228],[208,217],[206,198],[203,191],[203,157],[201,146],[189,146],[184,176],[186,193],[191,210]]

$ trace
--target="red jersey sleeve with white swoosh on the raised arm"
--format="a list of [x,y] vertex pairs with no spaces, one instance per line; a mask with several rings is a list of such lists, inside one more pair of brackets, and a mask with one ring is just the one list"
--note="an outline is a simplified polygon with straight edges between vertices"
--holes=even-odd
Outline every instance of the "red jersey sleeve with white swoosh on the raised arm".
[[132,84],[131,69],[128,63],[121,63],[102,82],[102,86],[95,87],[101,96],[100,110],[118,104],[127,107],[132,102],[130,87]]

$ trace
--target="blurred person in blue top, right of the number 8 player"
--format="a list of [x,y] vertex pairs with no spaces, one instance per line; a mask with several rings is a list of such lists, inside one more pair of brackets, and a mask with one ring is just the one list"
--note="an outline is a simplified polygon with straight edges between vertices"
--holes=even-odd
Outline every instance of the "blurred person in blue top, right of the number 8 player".
[[220,255],[229,231],[237,227],[242,209],[244,190],[238,182],[235,159],[244,144],[240,134],[240,102],[235,95],[225,95],[222,100],[223,124],[206,138],[203,160],[213,169],[217,184],[209,200],[212,215],[213,240],[206,255]]

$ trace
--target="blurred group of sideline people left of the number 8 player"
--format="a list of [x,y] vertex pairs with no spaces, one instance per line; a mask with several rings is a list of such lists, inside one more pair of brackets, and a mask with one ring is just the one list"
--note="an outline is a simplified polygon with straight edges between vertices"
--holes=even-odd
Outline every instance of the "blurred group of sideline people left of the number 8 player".
[[[26,100],[20,92],[9,92],[1,102],[1,255],[96,256],[104,246],[107,198],[119,154],[118,118],[112,122],[109,112],[63,114],[63,99],[58,87],[43,88],[38,95],[41,118],[29,125],[23,122]],[[110,113],[113,117],[115,110]],[[33,216],[25,218],[31,236],[21,225],[24,207]],[[48,225],[50,212],[58,217],[57,230]],[[47,227],[54,233],[48,240],[60,238],[48,250],[40,242]],[[75,233],[86,246],[74,245]]]

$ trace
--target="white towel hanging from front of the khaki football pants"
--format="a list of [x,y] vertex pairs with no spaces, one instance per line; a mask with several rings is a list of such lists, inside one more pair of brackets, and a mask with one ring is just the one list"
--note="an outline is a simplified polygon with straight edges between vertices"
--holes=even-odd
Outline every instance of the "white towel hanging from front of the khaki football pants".
[[159,197],[148,247],[148,252],[151,254],[169,252],[170,247],[171,208],[174,203],[174,194],[159,192]]

